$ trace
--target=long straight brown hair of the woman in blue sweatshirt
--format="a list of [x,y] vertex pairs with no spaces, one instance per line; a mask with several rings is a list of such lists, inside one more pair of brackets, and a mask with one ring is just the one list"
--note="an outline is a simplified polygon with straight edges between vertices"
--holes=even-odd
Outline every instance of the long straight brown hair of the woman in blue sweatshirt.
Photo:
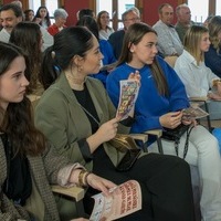
[[[119,56],[117,66],[125,62],[126,63],[131,62],[133,54],[129,50],[130,45],[138,44],[146,33],[155,33],[157,35],[157,32],[151,27],[149,27],[148,24],[141,23],[141,22],[134,23],[128,28],[128,30],[124,36],[122,54]],[[164,74],[156,57],[155,57],[155,61],[152,62],[152,64],[149,66],[151,69],[152,77],[155,80],[155,83],[156,83],[159,94],[168,95],[169,90],[168,90],[167,80],[166,80],[165,74]]]

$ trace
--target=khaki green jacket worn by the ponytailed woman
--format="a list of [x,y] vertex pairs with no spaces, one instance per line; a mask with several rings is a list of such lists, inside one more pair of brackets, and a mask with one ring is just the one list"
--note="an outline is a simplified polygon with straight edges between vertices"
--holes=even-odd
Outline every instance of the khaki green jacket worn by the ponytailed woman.
[[[87,77],[85,83],[96,108],[101,126],[115,117],[116,109],[99,81]],[[78,140],[92,135],[91,124],[63,73],[43,93],[34,116],[36,127],[61,155],[65,155],[73,162],[80,162],[92,170],[93,162],[84,160],[77,144]],[[128,127],[119,125],[118,133],[127,134],[128,131]],[[105,143],[104,148],[114,165],[117,165],[124,156],[109,143]]]

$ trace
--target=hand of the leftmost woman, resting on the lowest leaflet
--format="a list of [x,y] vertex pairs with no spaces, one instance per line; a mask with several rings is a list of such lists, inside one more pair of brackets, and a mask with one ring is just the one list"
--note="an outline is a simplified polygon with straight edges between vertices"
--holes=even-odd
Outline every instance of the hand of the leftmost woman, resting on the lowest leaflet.
[[102,191],[105,196],[109,196],[109,189],[115,188],[116,185],[107,179],[90,173],[86,177],[87,183],[96,190]]

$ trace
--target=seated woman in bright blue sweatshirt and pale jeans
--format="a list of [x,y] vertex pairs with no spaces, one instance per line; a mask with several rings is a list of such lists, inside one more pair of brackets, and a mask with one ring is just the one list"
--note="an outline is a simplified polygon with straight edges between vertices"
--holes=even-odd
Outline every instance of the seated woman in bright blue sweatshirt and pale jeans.
[[[129,27],[117,67],[107,77],[107,92],[118,104],[119,81],[136,71],[140,74],[140,88],[135,105],[131,133],[148,129],[176,128],[181,123],[194,122],[182,118],[189,106],[185,86],[176,72],[157,55],[157,33],[144,23]],[[179,144],[179,156],[183,157],[186,135]],[[164,151],[176,155],[173,141],[162,139]],[[154,143],[149,151],[158,151]],[[202,126],[196,126],[189,136],[186,160],[198,167],[200,177],[201,213],[203,220],[221,220],[221,160],[217,139]],[[165,219],[166,220],[166,219]]]

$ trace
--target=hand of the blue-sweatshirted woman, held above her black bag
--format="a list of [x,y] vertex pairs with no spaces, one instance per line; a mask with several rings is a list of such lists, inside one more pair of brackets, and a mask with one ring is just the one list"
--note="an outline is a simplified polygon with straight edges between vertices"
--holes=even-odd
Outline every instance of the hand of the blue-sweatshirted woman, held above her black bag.
[[162,127],[173,129],[181,124],[182,112],[170,112],[159,117]]

